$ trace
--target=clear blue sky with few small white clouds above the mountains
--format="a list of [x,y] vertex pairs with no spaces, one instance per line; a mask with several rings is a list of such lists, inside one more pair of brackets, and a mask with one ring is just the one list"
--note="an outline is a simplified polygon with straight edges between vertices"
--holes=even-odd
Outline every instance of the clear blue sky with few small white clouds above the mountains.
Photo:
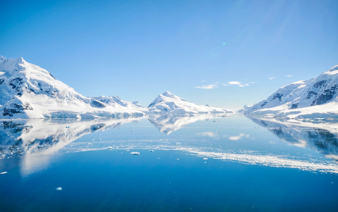
[[[337,0],[3,1],[0,55],[84,96],[237,110],[338,64]],[[208,89],[206,89],[208,88]]]

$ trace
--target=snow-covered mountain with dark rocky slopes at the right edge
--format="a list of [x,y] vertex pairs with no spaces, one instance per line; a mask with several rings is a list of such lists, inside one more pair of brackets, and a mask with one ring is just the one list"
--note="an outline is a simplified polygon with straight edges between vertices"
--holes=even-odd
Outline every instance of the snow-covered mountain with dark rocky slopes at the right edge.
[[338,65],[308,81],[283,86],[244,114],[287,118],[338,118]]

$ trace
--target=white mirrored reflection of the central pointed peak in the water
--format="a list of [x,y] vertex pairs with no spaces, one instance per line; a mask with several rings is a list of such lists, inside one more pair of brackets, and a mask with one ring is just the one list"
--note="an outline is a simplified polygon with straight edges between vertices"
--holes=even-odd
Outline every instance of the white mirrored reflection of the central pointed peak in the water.
[[160,132],[170,134],[175,130],[178,130],[187,124],[194,123],[196,121],[210,120],[212,116],[175,116],[175,115],[155,115],[151,114],[148,117],[150,123],[152,123]]

